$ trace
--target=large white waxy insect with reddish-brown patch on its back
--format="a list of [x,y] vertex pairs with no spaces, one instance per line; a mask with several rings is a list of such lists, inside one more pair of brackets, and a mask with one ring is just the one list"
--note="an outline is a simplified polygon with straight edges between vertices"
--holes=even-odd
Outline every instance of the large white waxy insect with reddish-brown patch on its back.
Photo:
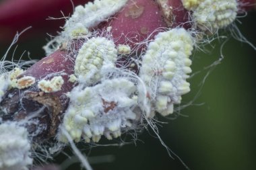
[[[108,79],[85,89],[78,85],[69,95],[63,127],[76,141],[83,137],[86,142],[98,142],[102,135],[109,140],[117,138],[136,118],[135,91],[134,83],[125,78]],[[59,133],[59,140],[65,142],[65,136]]]

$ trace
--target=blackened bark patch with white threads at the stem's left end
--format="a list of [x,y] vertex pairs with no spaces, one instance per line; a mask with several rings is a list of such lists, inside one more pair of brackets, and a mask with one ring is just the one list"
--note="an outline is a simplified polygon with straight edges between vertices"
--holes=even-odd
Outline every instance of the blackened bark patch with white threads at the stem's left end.
[[27,89],[10,89],[0,103],[0,118],[24,124],[33,142],[48,140],[51,111],[37,101],[26,98]]

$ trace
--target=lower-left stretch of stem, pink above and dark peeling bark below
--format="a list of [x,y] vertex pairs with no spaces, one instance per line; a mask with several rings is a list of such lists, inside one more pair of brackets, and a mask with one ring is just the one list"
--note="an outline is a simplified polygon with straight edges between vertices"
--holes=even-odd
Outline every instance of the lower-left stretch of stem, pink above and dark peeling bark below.
[[[73,74],[73,57],[72,52],[63,49],[57,50],[36,62],[24,74],[20,75],[18,79],[24,76],[32,76],[36,79],[36,82],[61,75],[64,85],[61,91],[53,93],[40,91],[37,83],[27,89],[10,89],[5,93],[0,104],[0,110],[6,110],[8,113],[3,115],[0,113],[2,120],[20,121],[31,116],[31,112],[36,112],[38,115],[32,116],[32,120],[39,121],[40,124],[25,124],[25,126],[30,134],[38,131],[40,126],[43,126],[44,129],[33,140],[44,142],[45,139],[55,136],[62,117],[61,113],[65,112],[69,102],[66,93],[74,87],[74,84],[68,81],[69,75]],[[41,110],[42,113],[38,113],[38,110]]]

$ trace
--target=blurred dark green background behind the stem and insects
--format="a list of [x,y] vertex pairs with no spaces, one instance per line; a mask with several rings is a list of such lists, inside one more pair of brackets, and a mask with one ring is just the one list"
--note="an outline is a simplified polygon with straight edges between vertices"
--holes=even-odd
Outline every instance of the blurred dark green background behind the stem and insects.
[[[248,13],[238,21],[236,26],[241,33],[256,46],[256,13]],[[51,23],[53,21],[49,21],[49,25]],[[4,34],[4,27],[6,30],[6,26],[0,24],[1,34]],[[11,56],[19,59],[24,50],[24,60],[28,59],[28,52],[30,58],[42,58],[42,46],[49,38],[46,33],[53,29],[36,33],[33,28],[26,31],[20,37],[15,53],[14,48],[9,52],[8,59]],[[230,37],[228,33],[225,35]],[[1,38],[0,56],[5,54],[10,40]],[[195,75],[189,79],[191,92],[183,97],[183,105],[190,105],[170,118],[158,116],[160,122],[166,122],[158,126],[160,136],[191,170],[253,170],[256,161],[256,51],[232,37],[225,44],[224,40],[215,40],[211,46],[205,46],[204,51],[207,52],[197,51],[192,56]],[[208,67],[221,54],[224,56],[222,62]],[[174,159],[168,156],[152,130],[138,134],[135,142],[129,136],[122,136],[115,142],[121,144],[121,140],[131,144],[96,147],[79,144],[79,148],[88,155],[95,170],[186,169],[176,156],[172,155]],[[106,142],[102,140],[100,144]],[[69,148],[49,163],[63,168],[70,163],[66,169],[80,169],[77,160],[67,161],[66,155],[72,155]]]

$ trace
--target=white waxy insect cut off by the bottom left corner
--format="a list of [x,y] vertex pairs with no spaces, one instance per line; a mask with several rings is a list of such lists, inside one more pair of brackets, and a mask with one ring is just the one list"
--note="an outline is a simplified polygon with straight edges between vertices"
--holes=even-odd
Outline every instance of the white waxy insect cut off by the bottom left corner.
[[32,165],[26,128],[14,122],[0,124],[0,169],[26,170]]

